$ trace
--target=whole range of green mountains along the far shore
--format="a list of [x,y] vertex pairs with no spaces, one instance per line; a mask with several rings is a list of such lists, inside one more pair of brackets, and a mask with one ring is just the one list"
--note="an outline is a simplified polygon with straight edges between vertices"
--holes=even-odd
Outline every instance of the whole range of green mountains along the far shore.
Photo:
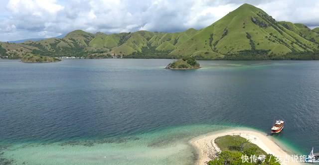
[[[1,53],[2,52],[2,53]],[[26,53],[86,58],[182,58],[222,60],[319,59],[319,28],[278,22],[265,11],[243,4],[200,30],[96,34],[82,30],[21,44],[0,43],[0,56]]]

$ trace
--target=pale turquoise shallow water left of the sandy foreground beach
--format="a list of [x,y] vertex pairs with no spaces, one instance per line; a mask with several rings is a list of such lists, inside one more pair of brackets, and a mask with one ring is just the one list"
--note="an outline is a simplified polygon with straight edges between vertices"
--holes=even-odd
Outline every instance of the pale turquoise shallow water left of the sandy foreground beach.
[[[217,130],[213,125],[166,128],[130,137],[73,140],[58,143],[13,144],[4,157],[30,165],[167,165],[192,164],[194,150],[188,140],[198,134]],[[218,126],[227,128],[225,126]]]

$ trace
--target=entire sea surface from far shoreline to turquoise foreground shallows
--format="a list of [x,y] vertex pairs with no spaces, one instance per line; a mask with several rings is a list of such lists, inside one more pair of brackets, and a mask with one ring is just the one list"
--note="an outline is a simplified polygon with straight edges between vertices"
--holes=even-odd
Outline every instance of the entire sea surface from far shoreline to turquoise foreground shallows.
[[191,138],[248,127],[319,152],[319,61],[0,60],[0,164],[191,165]]

